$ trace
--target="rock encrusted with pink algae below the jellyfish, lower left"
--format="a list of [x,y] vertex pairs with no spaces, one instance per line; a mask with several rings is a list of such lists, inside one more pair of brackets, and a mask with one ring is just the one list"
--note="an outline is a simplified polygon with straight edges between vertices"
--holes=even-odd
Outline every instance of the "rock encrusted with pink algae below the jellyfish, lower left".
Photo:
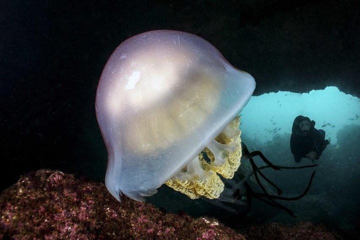
[[210,217],[116,201],[102,183],[60,171],[22,176],[0,195],[0,239],[245,239]]

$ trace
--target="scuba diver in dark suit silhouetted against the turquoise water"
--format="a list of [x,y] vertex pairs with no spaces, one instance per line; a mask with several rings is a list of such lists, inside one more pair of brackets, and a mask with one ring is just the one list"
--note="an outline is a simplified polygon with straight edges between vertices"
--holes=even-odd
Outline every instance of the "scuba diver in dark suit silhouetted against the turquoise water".
[[302,157],[318,159],[329,141],[325,140],[325,131],[317,130],[315,121],[307,116],[298,115],[292,123],[290,149],[295,162],[300,162]]

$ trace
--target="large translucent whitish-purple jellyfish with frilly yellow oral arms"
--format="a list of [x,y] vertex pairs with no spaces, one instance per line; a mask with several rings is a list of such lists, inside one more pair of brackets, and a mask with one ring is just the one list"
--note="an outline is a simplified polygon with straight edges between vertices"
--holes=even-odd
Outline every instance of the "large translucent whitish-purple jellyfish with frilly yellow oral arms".
[[[191,177],[206,183],[203,177],[217,176],[196,162],[198,154],[208,146],[219,165],[228,152],[238,153],[238,142],[227,145],[214,138],[223,132],[229,143],[234,135],[239,139],[235,117],[254,88],[251,75],[196,35],[154,30],[122,42],[108,59],[96,92],[109,192],[117,200],[121,192],[143,200],[171,178],[178,180],[172,182],[176,189],[189,185]],[[228,127],[234,118],[235,125]],[[221,183],[215,180],[214,188]],[[214,191],[207,190],[209,184],[205,191]]]

